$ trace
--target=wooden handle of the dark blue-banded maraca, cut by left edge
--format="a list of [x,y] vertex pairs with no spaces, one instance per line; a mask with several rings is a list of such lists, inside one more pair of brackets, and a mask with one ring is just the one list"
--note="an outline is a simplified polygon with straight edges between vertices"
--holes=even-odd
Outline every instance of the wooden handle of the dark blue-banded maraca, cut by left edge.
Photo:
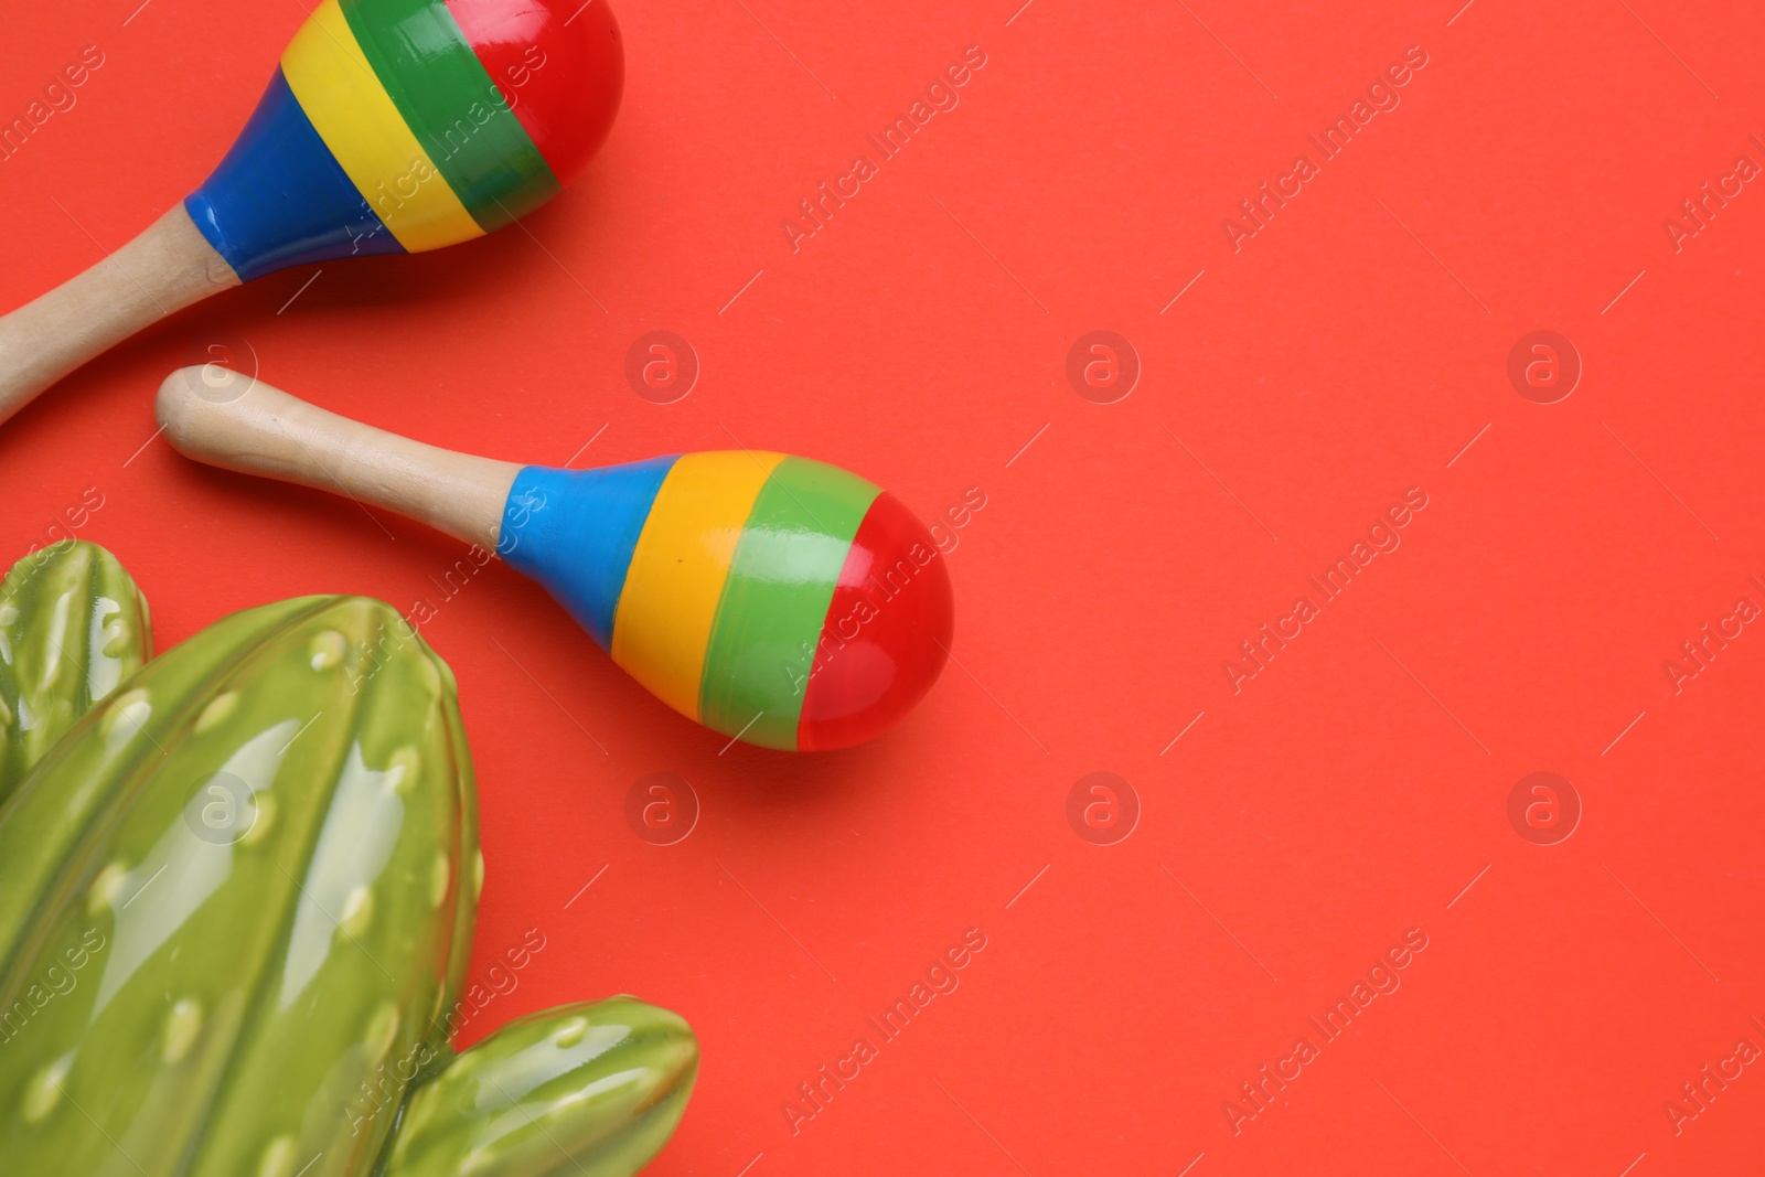
[[104,261],[0,318],[0,422],[106,348],[238,284],[180,201]]

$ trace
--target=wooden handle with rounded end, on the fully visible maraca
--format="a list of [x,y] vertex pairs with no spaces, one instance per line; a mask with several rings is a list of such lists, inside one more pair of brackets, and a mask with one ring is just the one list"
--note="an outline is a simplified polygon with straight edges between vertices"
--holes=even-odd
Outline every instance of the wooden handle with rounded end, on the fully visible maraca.
[[346,494],[496,551],[517,462],[441,450],[353,422],[226,367],[178,369],[155,404],[185,457]]

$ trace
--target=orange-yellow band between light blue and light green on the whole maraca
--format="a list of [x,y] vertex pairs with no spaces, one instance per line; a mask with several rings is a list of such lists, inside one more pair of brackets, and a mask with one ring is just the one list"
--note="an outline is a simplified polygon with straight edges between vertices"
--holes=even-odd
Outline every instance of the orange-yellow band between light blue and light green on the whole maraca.
[[612,621],[612,660],[681,715],[699,679],[729,561],[754,499],[784,454],[687,454],[662,480]]

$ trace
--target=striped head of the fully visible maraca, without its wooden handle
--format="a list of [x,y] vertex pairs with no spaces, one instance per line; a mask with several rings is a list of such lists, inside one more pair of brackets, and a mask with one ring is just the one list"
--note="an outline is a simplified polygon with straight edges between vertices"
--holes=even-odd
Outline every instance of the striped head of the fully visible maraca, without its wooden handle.
[[498,547],[664,702],[766,748],[881,734],[950,646],[950,574],[925,528],[803,457],[530,466]]

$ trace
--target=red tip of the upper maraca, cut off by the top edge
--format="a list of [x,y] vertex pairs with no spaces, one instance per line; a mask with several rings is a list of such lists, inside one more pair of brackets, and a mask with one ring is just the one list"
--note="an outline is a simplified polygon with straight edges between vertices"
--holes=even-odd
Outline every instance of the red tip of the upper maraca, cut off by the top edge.
[[607,0],[447,0],[478,62],[560,184],[600,150],[625,88]]

